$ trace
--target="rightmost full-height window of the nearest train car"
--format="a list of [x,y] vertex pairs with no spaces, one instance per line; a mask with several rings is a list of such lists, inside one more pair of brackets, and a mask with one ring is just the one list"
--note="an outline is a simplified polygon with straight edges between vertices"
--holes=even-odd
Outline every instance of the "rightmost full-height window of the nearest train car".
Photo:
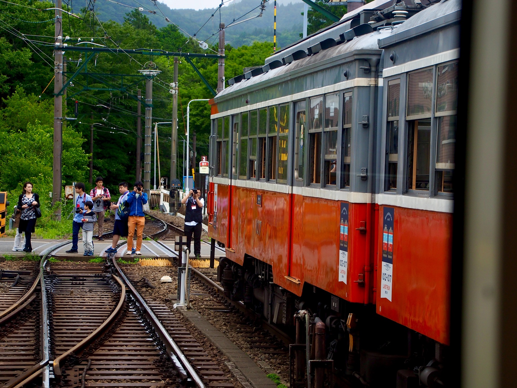
[[438,193],[453,192],[456,110],[458,107],[458,62],[438,66],[436,75],[436,164]]

